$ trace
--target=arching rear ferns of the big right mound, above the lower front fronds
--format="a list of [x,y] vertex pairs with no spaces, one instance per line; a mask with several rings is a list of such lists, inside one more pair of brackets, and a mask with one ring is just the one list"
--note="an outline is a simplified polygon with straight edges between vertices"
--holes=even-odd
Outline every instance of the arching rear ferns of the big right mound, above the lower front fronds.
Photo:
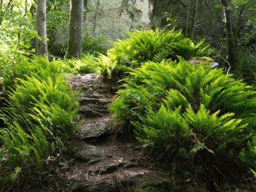
[[115,112],[116,118],[126,118],[129,121],[132,111],[143,114],[149,106],[159,109],[161,102],[173,109],[181,106],[182,111],[191,104],[196,112],[200,104],[204,104],[211,113],[218,110],[220,115],[234,113],[235,118],[243,118],[244,122],[253,127],[255,92],[241,81],[229,77],[221,69],[210,70],[209,66],[204,65],[192,66],[182,60],[179,63],[148,62],[125,79],[126,89],[118,92],[118,98],[110,108]]

